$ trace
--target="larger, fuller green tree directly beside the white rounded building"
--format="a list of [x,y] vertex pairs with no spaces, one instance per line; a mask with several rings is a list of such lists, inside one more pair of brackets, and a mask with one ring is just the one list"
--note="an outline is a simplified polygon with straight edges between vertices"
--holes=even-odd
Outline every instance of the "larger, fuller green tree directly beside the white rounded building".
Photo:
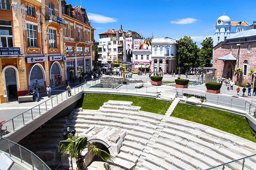
[[193,39],[188,36],[184,36],[178,40],[178,54],[179,54],[179,66],[181,67],[196,67],[199,48]]

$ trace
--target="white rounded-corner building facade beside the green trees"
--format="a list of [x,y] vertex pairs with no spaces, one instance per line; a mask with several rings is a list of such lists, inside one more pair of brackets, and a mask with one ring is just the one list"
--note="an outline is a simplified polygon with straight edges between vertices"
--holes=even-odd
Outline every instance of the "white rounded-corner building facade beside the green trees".
[[152,39],[151,73],[175,72],[177,65],[177,40],[172,38]]

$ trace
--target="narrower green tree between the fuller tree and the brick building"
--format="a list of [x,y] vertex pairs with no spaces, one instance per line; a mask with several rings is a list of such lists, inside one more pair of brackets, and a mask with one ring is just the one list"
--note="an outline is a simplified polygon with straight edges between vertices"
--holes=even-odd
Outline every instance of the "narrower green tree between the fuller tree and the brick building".
[[211,66],[212,52],[213,52],[213,39],[206,37],[201,43],[202,48],[199,51],[198,65],[203,67]]

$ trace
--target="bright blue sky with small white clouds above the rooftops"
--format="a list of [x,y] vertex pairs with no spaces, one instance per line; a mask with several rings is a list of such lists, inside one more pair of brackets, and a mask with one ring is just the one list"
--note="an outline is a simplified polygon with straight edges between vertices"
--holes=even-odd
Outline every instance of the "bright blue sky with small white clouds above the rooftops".
[[71,1],[72,6],[82,6],[91,21],[95,41],[99,33],[118,30],[136,31],[144,37],[170,37],[180,39],[190,36],[200,47],[203,39],[214,35],[219,16],[228,15],[231,21],[256,21],[256,1],[192,1],[192,0],[95,0]]

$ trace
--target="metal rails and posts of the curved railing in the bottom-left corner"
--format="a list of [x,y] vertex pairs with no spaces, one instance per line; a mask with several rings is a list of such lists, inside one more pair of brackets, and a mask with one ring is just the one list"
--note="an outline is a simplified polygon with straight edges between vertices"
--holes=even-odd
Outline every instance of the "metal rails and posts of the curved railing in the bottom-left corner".
[[[39,160],[39,162],[41,162],[41,168],[42,169],[49,169],[49,170],[51,170],[51,168],[48,166],[48,165],[46,165],[44,162],[43,162],[43,160],[42,159],[40,159],[36,154],[34,154],[32,151],[30,151],[30,150],[28,150],[27,148],[25,148],[25,147],[22,147],[21,145],[19,145],[18,143],[15,143],[15,142],[13,142],[13,141],[11,141],[11,140],[9,140],[9,139],[6,139],[6,138],[2,138],[2,137],[0,137],[0,141],[1,140],[4,140],[4,141],[6,141],[6,144],[8,144],[8,147],[9,147],[9,149],[7,149],[8,151],[9,151],[9,155],[10,155],[10,157],[12,156],[12,153],[11,153],[11,151],[10,151],[10,143],[12,143],[13,145],[15,145],[15,146],[18,146],[20,149],[20,159],[21,159],[21,163],[22,163],[22,152],[21,152],[21,148],[22,149],[24,149],[24,150],[26,150],[26,151],[28,151],[29,152],[29,157],[31,158],[31,163],[33,164],[33,162],[35,162],[35,161],[33,161],[33,157],[31,157],[31,155],[33,155],[36,159],[38,159]],[[3,145],[1,145],[1,146],[3,146]],[[3,152],[5,152],[4,150],[2,150]],[[17,157],[17,156],[15,156],[15,157]],[[33,165],[31,165],[32,167],[33,167],[33,169],[35,169],[34,168],[34,164]],[[44,168],[45,167],[45,168]],[[37,167],[37,169],[41,169],[41,168],[38,168]]]

